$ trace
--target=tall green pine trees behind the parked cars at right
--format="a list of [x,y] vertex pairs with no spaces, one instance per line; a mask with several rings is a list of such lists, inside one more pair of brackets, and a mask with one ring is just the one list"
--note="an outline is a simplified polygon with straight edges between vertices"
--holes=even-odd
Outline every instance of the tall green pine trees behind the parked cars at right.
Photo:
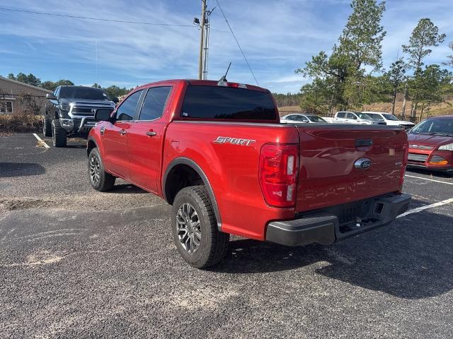
[[[352,13],[331,52],[319,52],[296,70],[310,79],[299,93],[302,109],[326,114],[360,109],[374,102],[393,102],[394,112],[396,97],[401,93],[404,102],[411,100],[411,107],[403,105],[401,113],[415,118],[453,93],[452,73],[442,69],[453,67],[453,55],[447,56],[442,65],[424,62],[432,48],[446,37],[429,18],[420,19],[408,43],[401,46],[403,57],[384,69],[382,42],[386,31],[381,20],[385,2],[352,0],[350,6]],[[453,42],[449,47],[453,50]]]

